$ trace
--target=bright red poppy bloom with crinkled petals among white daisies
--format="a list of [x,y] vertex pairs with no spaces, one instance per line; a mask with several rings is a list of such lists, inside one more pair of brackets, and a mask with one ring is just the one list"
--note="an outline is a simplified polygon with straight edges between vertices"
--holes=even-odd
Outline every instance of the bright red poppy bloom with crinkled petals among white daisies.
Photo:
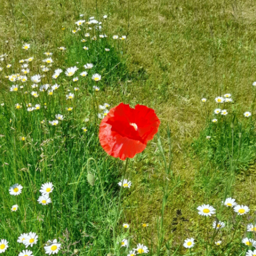
[[110,109],[100,124],[100,145],[110,156],[121,160],[132,158],[145,149],[159,125],[154,109],[139,104],[130,108],[120,103]]

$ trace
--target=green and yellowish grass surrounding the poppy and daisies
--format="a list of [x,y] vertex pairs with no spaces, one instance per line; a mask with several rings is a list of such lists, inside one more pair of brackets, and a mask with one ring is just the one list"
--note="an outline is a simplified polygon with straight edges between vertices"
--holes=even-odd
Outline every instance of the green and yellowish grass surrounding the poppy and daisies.
[[[94,120],[96,110],[93,108],[97,106],[93,104],[96,99],[98,104],[108,102],[115,106],[125,102],[134,106],[140,103],[156,109],[162,122],[160,134],[167,157],[170,152],[165,127],[167,123],[170,125],[172,171],[175,176],[170,184],[181,180],[182,185],[173,190],[167,200],[164,210],[164,245],[160,254],[189,255],[189,250],[182,248],[182,242],[194,237],[197,244],[192,253],[197,255],[245,255],[241,239],[249,220],[237,219],[231,209],[226,211],[226,208],[221,207],[221,200],[230,181],[228,173],[235,170],[235,179],[228,193],[237,202],[249,205],[251,211],[255,211],[254,127],[243,126],[244,148],[239,154],[239,164],[231,169],[231,154],[227,153],[232,147],[231,127],[227,125],[222,130],[224,126],[221,126],[218,132],[220,137],[214,139],[215,135],[209,133],[214,132],[214,129],[212,125],[208,126],[205,116],[212,118],[212,111],[216,107],[215,97],[231,93],[234,103],[228,108],[236,112],[234,147],[237,148],[240,123],[244,124],[243,113],[252,109],[255,94],[255,88],[252,88],[255,80],[252,72],[255,60],[255,3],[198,0],[31,1],[28,4],[19,0],[15,3],[0,1],[0,4],[3,7],[0,46],[3,53],[8,53],[8,61],[15,70],[17,60],[30,57],[21,49],[22,43],[27,42],[33,46],[29,50],[30,55],[35,57],[34,67],[31,68],[42,65],[41,60],[45,58],[42,53],[51,51],[56,67],[77,65],[81,68],[85,63],[94,63],[92,74],[98,72],[103,75],[96,98],[88,90],[93,81],[80,80],[77,85],[80,90],[74,99],[76,108],[72,113],[65,110],[68,104],[62,92],[61,97],[53,95],[47,102],[48,108],[42,109],[40,115],[39,112],[28,113],[25,106],[19,112],[14,109],[13,103],[25,104],[29,103],[28,99],[35,99],[10,93],[8,88],[11,83],[8,84],[1,75],[1,98],[6,103],[1,109],[1,134],[5,135],[1,138],[1,232],[3,238],[8,237],[12,245],[6,254],[20,252],[22,246],[13,248],[13,245],[17,244],[16,239],[21,232],[34,229],[40,234],[40,243],[36,250],[33,249],[34,255],[39,255],[48,239],[59,236],[66,239],[67,235],[62,235],[66,228],[70,232],[68,243],[79,241],[70,247],[72,252],[78,248],[79,253],[85,255],[113,253],[109,228],[115,216],[117,182],[121,179],[119,170],[122,163],[106,158],[106,154],[98,147],[99,120]],[[71,34],[80,13],[85,13],[86,19],[94,15],[99,20],[107,14],[109,19],[103,25],[103,28],[107,28],[106,34],[126,34],[126,42],[123,45],[115,44],[109,36],[100,49],[111,48],[114,54],[99,52],[99,41],[91,45],[94,53],[87,54],[81,49],[79,34]],[[57,47],[62,45],[67,48],[63,55],[57,51]],[[74,85],[64,78],[62,76],[60,80],[62,87],[71,89]],[[200,101],[203,97],[208,99],[207,114]],[[42,107],[48,98],[38,98]],[[61,126],[54,128],[40,124],[44,118],[53,120],[60,111],[65,113],[66,118]],[[92,120],[88,125],[83,122],[86,117]],[[88,126],[86,134],[81,130],[83,126]],[[205,136],[210,134],[213,138],[211,142],[205,140]],[[225,134],[228,134],[228,147],[225,147],[222,139]],[[19,140],[22,135],[26,136],[25,142]],[[103,171],[104,189],[108,192],[106,197],[111,203],[111,211],[107,211],[103,203],[93,163],[95,185],[91,187],[87,182],[87,170],[83,167],[89,157],[97,159]],[[84,174],[81,182],[76,184],[82,170]],[[122,197],[118,239],[130,237],[132,244],[144,243],[149,247],[150,254],[154,255],[158,245],[157,220],[161,217],[162,186],[168,177],[157,149],[157,138],[142,154],[130,161],[128,173],[133,187],[125,191]],[[13,198],[8,194],[8,188],[22,179],[24,192],[17,199]],[[55,186],[54,203],[45,208],[36,200],[40,185],[49,179]],[[19,211],[11,213],[10,208],[18,199]],[[207,220],[205,225],[204,218],[198,216],[196,207],[203,203],[214,205],[218,209],[217,217],[228,223],[227,229],[218,234],[223,244],[228,245],[230,234],[236,230],[235,239],[225,252],[216,248],[206,252],[206,227],[211,227],[212,221]],[[44,216],[44,222],[37,221],[40,215]],[[122,222],[130,224],[128,231],[122,230]],[[141,223],[144,222],[149,223],[149,226],[143,229]],[[211,236],[213,230],[210,230]],[[124,250],[121,252],[127,254]]]

